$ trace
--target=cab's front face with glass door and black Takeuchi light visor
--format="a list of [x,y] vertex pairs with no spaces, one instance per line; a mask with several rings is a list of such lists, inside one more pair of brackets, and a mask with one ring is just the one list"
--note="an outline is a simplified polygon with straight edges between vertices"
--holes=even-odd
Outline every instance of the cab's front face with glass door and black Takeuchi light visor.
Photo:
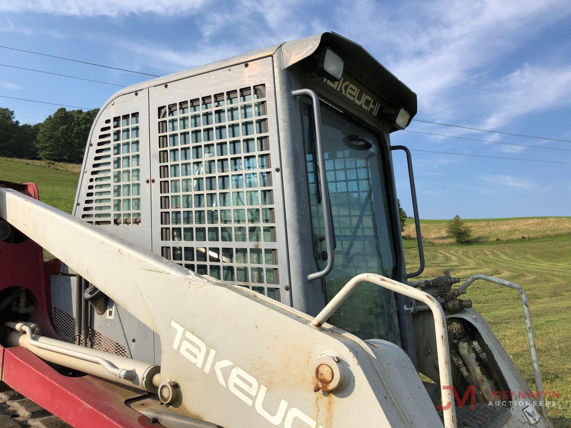
[[[299,48],[287,45],[282,56],[295,60]],[[324,63],[337,70],[324,70]],[[299,115],[303,140],[303,161],[297,158],[292,164],[300,162],[307,184],[291,197],[305,201],[309,221],[303,223],[299,218],[303,232],[291,241],[297,241],[298,248],[311,248],[307,260],[298,262],[305,268],[304,274],[326,269],[331,259],[329,239],[334,248],[331,272],[311,282],[301,275],[292,280],[303,284],[305,279],[297,296],[292,290],[293,306],[314,314],[356,274],[379,273],[407,282],[389,135],[411,122],[416,114],[416,94],[362,47],[336,34],[322,35],[313,53],[288,63],[287,71],[292,90],[308,88],[319,97],[319,124],[309,96],[301,96],[292,107]],[[323,140],[324,171],[317,159],[316,126],[320,126]],[[329,237],[322,181],[329,193],[333,231]],[[298,300],[300,292],[303,302]],[[367,284],[356,290],[329,322],[363,340],[398,344],[415,361],[411,319],[405,312],[408,304],[403,296]]]

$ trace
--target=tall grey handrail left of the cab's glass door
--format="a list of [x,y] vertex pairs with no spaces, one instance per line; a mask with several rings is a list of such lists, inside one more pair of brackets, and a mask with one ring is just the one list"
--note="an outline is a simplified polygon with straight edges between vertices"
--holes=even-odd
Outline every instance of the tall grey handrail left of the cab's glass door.
[[323,154],[323,140],[321,139],[321,110],[319,108],[319,96],[311,89],[296,89],[291,91],[293,97],[300,95],[311,96],[313,104],[313,120],[315,122],[315,148],[317,151],[317,165],[319,165],[319,185],[321,189],[321,209],[323,210],[323,223],[325,224],[325,244],[327,244],[327,266],[319,272],[310,273],[307,276],[309,282],[323,278],[333,269],[335,264],[335,248],[333,247],[333,228],[329,208],[329,187],[325,174],[325,156]]

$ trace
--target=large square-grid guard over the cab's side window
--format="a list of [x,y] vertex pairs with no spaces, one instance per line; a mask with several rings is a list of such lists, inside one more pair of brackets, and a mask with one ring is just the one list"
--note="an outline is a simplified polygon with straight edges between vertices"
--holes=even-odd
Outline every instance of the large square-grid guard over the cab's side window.
[[280,300],[266,103],[259,84],[158,107],[160,252]]

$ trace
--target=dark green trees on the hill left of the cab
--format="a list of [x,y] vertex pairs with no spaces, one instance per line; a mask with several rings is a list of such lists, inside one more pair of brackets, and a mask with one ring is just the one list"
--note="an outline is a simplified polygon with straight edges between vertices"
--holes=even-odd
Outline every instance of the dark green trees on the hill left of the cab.
[[98,111],[61,107],[43,122],[30,125],[20,124],[14,110],[0,107],[0,156],[81,163]]

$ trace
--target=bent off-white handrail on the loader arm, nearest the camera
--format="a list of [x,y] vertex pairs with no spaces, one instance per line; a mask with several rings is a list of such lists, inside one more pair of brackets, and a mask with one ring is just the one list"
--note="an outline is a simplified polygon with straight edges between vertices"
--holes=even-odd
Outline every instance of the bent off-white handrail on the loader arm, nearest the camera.
[[[453,390],[452,390],[452,371],[450,366],[450,351],[448,348],[448,332],[446,317],[442,306],[436,298],[430,294],[425,293],[417,288],[412,288],[402,282],[391,280],[390,278],[381,276],[375,273],[361,273],[353,277],[339,293],[321,310],[311,325],[319,328],[329,317],[335,312],[341,304],[364,282],[379,285],[387,288],[392,292],[404,294],[404,296],[411,297],[425,303],[431,310],[434,316],[434,328],[436,333],[436,352],[438,356],[438,370],[440,375],[440,393],[442,394],[442,404],[444,408],[444,426],[445,428],[456,427],[456,407],[454,405]],[[449,405],[448,405],[449,403]]]

